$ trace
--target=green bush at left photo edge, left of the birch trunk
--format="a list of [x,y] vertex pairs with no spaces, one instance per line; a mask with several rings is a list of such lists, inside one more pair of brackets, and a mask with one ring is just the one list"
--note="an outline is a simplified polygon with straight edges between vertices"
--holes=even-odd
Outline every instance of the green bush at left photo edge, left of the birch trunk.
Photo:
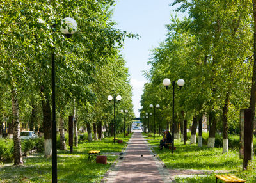
[[13,140],[0,139],[0,162],[10,162],[13,159]]

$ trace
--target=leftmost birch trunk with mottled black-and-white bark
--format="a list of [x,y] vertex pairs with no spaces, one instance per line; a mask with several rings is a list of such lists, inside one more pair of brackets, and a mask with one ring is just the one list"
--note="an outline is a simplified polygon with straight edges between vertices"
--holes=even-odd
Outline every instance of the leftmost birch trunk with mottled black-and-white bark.
[[12,114],[14,122],[14,134],[13,134],[13,157],[14,164],[23,164],[22,150],[21,150],[21,139],[20,139],[20,120],[19,120],[19,102],[17,99],[17,90],[12,90]]

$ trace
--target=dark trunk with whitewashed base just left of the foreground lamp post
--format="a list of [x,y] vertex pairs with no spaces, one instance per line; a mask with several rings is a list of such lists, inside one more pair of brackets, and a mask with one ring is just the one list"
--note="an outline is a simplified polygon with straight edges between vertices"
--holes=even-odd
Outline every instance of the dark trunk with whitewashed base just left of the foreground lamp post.
[[[44,96],[44,87],[41,88],[41,93]],[[44,94],[43,94],[44,93]],[[49,157],[52,155],[52,116],[49,96],[42,96],[42,111],[43,111],[43,129],[44,129],[44,155]]]

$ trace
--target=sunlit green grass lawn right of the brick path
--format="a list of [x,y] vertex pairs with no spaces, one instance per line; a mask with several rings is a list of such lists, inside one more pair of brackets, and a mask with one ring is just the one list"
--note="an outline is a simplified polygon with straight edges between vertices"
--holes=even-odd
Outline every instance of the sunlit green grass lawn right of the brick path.
[[[147,134],[143,134],[147,136]],[[256,182],[256,161],[253,160],[250,164],[250,168],[247,171],[242,170],[242,159],[239,159],[239,150],[230,150],[229,152],[222,154],[222,148],[202,148],[198,145],[190,145],[187,141],[186,145],[175,140],[175,147],[177,150],[172,154],[172,150],[164,149],[159,150],[159,141],[162,136],[156,136],[148,138],[148,143],[152,145],[156,154],[160,157],[167,168],[175,169],[193,169],[193,170],[212,170],[212,171],[229,171],[229,174],[237,175],[242,179],[246,179],[248,183]],[[210,175],[193,175],[187,178],[175,179],[177,183],[189,182],[216,182],[214,173]]]

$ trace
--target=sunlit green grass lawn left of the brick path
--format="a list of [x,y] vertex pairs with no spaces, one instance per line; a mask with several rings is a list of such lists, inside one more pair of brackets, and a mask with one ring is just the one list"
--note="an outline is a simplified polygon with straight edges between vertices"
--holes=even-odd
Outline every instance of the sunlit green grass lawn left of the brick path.
[[[118,154],[124,148],[131,134],[124,138],[123,134],[116,136],[123,143],[112,143],[111,138],[102,141],[83,141],[78,147],[70,150],[58,150],[58,182],[100,182],[109,166],[115,161]],[[101,155],[106,155],[108,164],[88,162],[88,151],[100,150]],[[24,165],[12,164],[0,165],[0,182],[51,182],[51,158],[45,158],[44,154],[33,154],[24,157]]]

